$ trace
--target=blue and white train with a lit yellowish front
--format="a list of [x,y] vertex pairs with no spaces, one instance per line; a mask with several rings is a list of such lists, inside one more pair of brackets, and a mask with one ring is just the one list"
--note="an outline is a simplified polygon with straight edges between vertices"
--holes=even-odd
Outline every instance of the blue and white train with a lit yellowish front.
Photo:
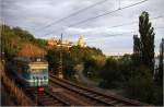
[[48,62],[40,58],[16,57],[13,60],[14,73],[30,87],[45,87],[48,85]]

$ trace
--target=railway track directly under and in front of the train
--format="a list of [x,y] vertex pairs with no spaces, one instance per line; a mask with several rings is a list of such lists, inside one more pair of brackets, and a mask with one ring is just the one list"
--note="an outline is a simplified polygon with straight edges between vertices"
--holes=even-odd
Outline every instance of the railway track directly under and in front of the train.
[[62,98],[54,95],[50,88],[46,87],[45,91],[38,92],[36,87],[24,87],[23,83],[15,78],[12,78],[14,82],[21,87],[24,93],[34,102],[34,105],[38,106],[70,106],[70,104]]

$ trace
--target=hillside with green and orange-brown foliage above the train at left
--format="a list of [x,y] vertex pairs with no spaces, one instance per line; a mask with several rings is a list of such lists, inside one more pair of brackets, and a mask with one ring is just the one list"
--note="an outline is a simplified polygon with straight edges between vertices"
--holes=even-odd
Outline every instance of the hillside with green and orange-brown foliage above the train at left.
[[46,55],[46,40],[36,39],[31,33],[20,27],[10,27],[8,25],[1,27],[2,49],[7,60],[16,56],[36,57]]

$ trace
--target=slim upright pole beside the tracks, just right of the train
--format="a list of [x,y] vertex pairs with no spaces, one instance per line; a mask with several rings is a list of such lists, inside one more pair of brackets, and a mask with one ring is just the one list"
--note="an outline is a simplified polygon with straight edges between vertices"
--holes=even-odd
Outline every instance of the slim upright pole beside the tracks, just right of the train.
[[59,61],[59,78],[63,79],[62,74],[62,33],[61,33],[61,38],[60,38],[60,61]]

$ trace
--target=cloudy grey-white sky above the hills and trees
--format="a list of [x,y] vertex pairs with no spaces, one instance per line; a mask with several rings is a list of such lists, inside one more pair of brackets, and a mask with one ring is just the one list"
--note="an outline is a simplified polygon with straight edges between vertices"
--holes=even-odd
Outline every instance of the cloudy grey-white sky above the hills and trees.
[[[147,0],[78,24],[141,1],[143,0],[0,0],[0,20],[26,29],[37,38],[59,38],[62,33],[63,39],[77,41],[83,35],[87,46],[99,48],[105,55],[122,55],[132,52],[132,37],[139,35],[139,15],[147,11],[154,27],[155,52],[159,52],[161,38],[164,37],[164,0]],[[93,4],[95,5],[57,23]]]

